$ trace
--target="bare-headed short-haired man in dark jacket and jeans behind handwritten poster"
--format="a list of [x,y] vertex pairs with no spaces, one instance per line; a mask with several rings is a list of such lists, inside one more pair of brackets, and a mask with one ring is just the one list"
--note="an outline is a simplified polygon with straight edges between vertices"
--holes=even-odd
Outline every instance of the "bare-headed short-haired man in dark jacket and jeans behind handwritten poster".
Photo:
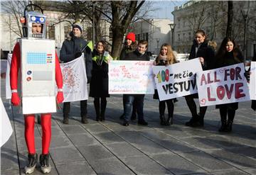
[[[148,43],[146,40],[140,40],[138,43],[137,50],[127,53],[123,60],[130,61],[149,61],[149,55],[146,54]],[[145,94],[124,94],[124,126],[129,125],[129,116],[132,112],[132,103],[136,100],[136,109],[138,113],[138,124],[148,125],[144,120],[144,96]]]

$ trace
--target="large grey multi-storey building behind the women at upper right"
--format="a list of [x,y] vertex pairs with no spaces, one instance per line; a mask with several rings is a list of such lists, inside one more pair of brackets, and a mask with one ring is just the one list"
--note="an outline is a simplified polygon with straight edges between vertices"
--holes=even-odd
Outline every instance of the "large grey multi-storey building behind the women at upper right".
[[[248,11],[246,23],[246,55],[250,59],[256,52],[256,1],[233,1],[233,38],[240,50],[244,45],[244,19],[241,10]],[[245,11],[245,13],[246,13]],[[190,52],[194,33],[203,29],[208,40],[214,40],[218,46],[225,38],[227,28],[228,1],[191,0],[182,6],[176,6],[174,15],[174,43],[177,52]]]

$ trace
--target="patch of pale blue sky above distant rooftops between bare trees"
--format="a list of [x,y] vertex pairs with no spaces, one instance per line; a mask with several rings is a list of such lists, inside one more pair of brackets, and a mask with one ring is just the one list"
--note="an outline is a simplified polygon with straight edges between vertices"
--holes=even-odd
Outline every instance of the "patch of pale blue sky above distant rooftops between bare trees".
[[152,18],[169,18],[173,19],[171,11],[174,11],[174,6],[181,6],[186,1],[153,1],[154,7],[159,9],[155,13],[151,13]]

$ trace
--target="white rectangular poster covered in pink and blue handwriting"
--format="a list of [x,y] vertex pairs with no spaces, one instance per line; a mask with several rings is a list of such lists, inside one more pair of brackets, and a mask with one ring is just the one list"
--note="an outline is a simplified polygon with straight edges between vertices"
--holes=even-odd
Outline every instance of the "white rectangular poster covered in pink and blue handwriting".
[[110,94],[154,94],[153,62],[111,61]]

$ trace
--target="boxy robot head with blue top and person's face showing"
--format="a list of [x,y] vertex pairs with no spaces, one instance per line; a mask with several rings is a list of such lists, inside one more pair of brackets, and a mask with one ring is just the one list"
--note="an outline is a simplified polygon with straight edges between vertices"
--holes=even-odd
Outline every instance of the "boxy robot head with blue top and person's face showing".
[[[34,4],[29,4],[28,6],[36,6]],[[46,16],[37,11],[26,11],[24,10],[24,17],[21,18],[21,23],[23,23],[23,37],[28,39],[46,39]]]

